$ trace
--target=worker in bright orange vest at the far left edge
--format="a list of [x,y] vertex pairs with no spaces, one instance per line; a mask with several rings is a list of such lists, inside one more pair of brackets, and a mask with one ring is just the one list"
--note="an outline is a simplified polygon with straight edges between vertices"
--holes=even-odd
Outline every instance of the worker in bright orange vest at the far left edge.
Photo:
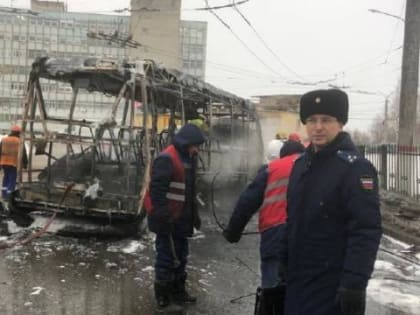
[[[10,128],[10,134],[0,142],[0,167],[3,169],[1,192],[3,199],[8,199],[10,193],[15,190],[20,132],[20,126],[13,125]],[[23,150],[22,154],[22,166],[23,168],[28,166],[28,157],[25,150]]]

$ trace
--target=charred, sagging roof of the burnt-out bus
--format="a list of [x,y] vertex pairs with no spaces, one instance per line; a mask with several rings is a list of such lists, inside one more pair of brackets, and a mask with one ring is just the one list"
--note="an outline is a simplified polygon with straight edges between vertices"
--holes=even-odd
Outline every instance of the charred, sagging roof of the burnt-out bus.
[[[210,100],[250,110],[250,102],[232,93],[219,89],[192,75],[175,69],[164,68],[152,60],[141,64],[147,78],[147,85],[167,99],[167,103],[183,99],[204,106]],[[103,58],[50,58],[39,57],[32,64],[33,76],[67,82],[73,87],[117,96],[125,82],[130,80],[134,63]],[[136,75],[140,82],[140,74]],[[138,88],[137,88],[138,87]],[[140,84],[136,84],[135,98],[141,101]]]

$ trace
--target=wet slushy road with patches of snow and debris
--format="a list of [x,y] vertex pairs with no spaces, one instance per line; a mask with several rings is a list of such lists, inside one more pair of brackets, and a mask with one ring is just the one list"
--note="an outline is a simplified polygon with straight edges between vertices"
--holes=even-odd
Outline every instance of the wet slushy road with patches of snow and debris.
[[[199,303],[187,314],[253,314],[258,237],[230,245],[212,218],[203,221],[204,232],[191,241],[189,267],[189,286]],[[3,250],[0,314],[154,314],[152,244],[151,235],[122,241],[50,235]],[[388,237],[382,248],[367,314],[420,314],[420,253]]]

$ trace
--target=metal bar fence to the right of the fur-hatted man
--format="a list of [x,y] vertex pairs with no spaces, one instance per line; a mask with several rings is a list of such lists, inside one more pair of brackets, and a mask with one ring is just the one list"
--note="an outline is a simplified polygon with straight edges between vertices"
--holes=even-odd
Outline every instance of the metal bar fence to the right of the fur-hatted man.
[[382,189],[420,202],[420,147],[384,144],[365,145],[359,150],[378,170]]

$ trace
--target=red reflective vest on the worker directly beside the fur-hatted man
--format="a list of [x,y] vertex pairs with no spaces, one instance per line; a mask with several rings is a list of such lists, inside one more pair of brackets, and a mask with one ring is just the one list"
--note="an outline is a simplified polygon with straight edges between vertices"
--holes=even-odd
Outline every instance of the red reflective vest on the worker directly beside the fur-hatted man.
[[276,159],[268,164],[267,187],[259,211],[259,231],[283,224],[287,219],[287,185],[293,163],[299,153]]

